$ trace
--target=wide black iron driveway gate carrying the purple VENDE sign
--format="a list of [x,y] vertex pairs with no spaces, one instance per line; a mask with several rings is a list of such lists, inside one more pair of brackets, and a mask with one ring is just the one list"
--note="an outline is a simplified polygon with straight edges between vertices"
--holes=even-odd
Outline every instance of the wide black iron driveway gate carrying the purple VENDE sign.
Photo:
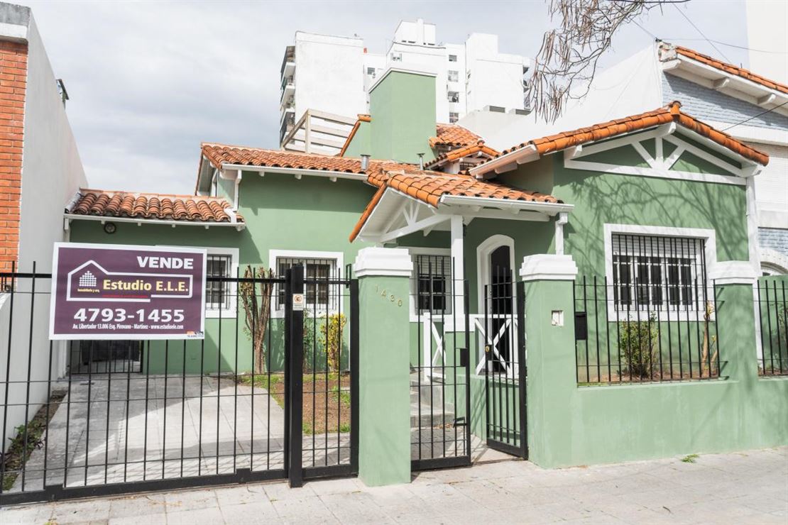
[[281,273],[209,276],[203,340],[133,342],[50,342],[51,275],[0,274],[0,505],[354,475],[358,282]]

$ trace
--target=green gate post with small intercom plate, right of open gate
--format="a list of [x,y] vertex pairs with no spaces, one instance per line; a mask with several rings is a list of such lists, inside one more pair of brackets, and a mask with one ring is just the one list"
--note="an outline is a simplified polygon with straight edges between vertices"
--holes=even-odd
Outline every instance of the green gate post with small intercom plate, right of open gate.
[[543,467],[560,463],[571,449],[571,397],[577,388],[574,364],[574,301],[578,273],[571,256],[525,257],[526,414],[528,459]]

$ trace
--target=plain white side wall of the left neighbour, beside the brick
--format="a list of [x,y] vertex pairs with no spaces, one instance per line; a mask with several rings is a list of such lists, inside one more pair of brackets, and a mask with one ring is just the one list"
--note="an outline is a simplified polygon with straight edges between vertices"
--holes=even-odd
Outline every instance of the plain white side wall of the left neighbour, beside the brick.
[[[52,243],[66,238],[63,210],[76,190],[84,185],[84,169],[58,94],[54,72],[31,17],[22,152],[20,272],[32,271],[33,261],[37,263],[36,272],[51,271]],[[39,405],[46,401],[46,380],[50,369],[49,290],[50,280],[39,279],[34,296],[30,293],[31,281],[20,279],[17,294],[14,294],[13,320],[9,319],[9,294],[2,294],[0,298],[0,377],[5,381],[10,322],[10,347],[13,349],[10,378],[12,381],[27,379],[29,359],[29,373],[33,381],[29,395],[24,383],[14,383],[9,389],[9,400],[14,406],[9,408],[6,435],[2,436],[6,445],[14,427],[24,422],[24,404],[29,400],[28,418],[32,418]],[[35,309],[31,316],[34,297]],[[52,347],[51,369],[53,379],[65,372],[65,345],[61,342]],[[3,395],[4,392],[0,391],[0,404],[4,402]]]

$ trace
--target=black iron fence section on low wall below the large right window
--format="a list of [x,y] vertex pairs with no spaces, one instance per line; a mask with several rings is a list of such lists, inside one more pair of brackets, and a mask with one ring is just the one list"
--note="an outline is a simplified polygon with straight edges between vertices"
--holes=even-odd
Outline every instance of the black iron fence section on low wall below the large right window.
[[[634,290],[634,291],[632,291]],[[574,282],[578,384],[716,379],[724,369],[717,288],[680,284]]]

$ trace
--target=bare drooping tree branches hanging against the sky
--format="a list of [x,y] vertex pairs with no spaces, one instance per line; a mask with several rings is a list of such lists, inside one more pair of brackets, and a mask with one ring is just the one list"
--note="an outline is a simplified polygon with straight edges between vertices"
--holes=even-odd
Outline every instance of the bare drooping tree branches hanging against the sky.
[[567,102],[588,94],[597,61],[623,25],[663,4],[687,0],[550,0],[550,20],[534,59],[528,97],[538,117],[555,122]]

